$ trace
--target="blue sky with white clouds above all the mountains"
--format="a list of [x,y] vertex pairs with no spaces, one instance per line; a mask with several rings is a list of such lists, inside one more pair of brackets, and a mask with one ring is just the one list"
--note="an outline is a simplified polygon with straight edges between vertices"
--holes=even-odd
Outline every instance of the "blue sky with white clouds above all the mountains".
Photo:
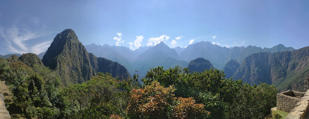
[[0,55],[39,54],[72,29],[83,45],[309,46],[307,0],[0,1]]

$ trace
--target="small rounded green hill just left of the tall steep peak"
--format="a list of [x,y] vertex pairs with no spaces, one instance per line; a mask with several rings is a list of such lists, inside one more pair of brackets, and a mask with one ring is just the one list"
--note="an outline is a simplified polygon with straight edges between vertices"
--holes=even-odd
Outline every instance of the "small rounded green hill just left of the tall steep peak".
[[36,54],[33,54],[33,53],[25,53],[19,57],[19,60],[31,68],[35,64],[44,66],[41,59]]

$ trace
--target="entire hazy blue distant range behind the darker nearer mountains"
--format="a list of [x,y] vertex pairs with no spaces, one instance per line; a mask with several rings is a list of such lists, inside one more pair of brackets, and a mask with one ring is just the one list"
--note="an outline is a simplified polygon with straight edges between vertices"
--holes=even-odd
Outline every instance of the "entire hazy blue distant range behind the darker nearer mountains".
[[[186,48],[170,48],[163,42],[153,47],[139,47],[137,50],[130,50],[123,46],[109,46],[108,44],[96,45],[94,43],[85,45],[87,51],[96,56],[104,57],[124,65],[130,75],[138,71],[140,77],[144,77],[150,68],[163,66],[167,69],[170,67],[180,66],[188,67],[191,60],[204,58],[213,64],[214,68],[223,69],[224,65],[231,59],[241,63],[244,58],[257,52],[277,52],[277,51],[294,51],[292,47],[285,47],[282,44],[272,48],[260,48],[255,46],[248,47],[220,47],[210,42],[197,42],[188,45]],[[234,74],[234,73],[233,73]]]

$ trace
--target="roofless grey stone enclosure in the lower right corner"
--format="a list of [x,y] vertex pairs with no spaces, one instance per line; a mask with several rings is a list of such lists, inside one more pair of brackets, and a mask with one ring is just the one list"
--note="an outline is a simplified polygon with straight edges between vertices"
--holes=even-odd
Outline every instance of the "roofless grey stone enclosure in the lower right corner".
[[[303,95],[302,93],[294,93],[295,91],[288,90],[277,94],[277,109],[280,109],[284,112],[291,112],[295,107],[296,103],[300,101],[299,96]],[[296,95],[298,97],[296,97]]]

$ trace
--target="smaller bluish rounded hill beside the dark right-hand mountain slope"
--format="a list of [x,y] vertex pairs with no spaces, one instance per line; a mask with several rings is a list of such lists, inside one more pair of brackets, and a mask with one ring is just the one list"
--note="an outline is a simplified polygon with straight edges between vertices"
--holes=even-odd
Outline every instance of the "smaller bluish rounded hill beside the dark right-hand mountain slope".
[[236,72],[236,70],[239,68],[239,66],[240,64],[234,59],[231,59],[230,61],[228,61],[223,67],[225,78],[228,78],[228,79],[231,78]]

